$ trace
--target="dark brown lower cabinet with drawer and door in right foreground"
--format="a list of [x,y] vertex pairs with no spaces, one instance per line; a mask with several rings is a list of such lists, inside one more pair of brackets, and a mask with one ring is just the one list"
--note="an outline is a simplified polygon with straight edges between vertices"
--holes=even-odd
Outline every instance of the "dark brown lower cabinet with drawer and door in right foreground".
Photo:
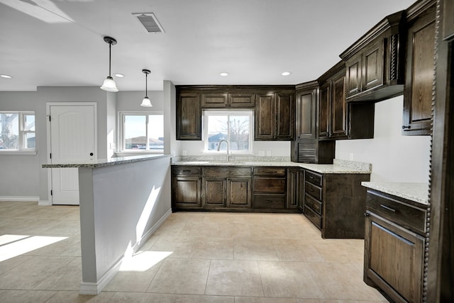
[[422,302],[426,210],[369,190],[364,281],[393,302]]

